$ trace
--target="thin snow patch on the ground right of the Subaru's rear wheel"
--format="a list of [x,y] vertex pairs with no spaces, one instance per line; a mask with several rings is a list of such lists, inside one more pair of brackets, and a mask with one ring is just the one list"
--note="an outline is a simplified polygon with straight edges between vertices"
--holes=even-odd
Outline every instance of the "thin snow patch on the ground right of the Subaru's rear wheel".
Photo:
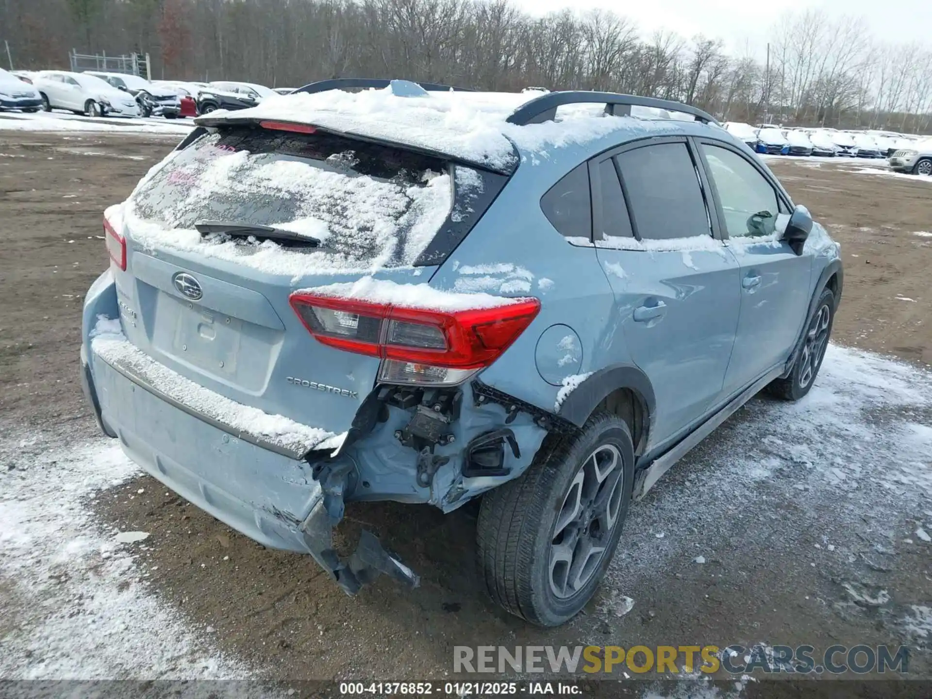
[[[861,623],[883,622],[878,633],[914,644],[929,633],[932,598],[916,606],[914,591],[877,570],[909,575],[908,561],[932,555],[916,534],[932,524],[930,501],[932,374],[829,345],[807,397],[755,398],[633,504],[599,594],[663,606],[657,581],[686,575],[700,560],[713,578],[768,561],[782,572],[765,595],[774,607],[788,605],[788,615],[809,609],[812,628],[821,628],[819,615],[876,614]],[[787,638],[729,638],[762,640]]]

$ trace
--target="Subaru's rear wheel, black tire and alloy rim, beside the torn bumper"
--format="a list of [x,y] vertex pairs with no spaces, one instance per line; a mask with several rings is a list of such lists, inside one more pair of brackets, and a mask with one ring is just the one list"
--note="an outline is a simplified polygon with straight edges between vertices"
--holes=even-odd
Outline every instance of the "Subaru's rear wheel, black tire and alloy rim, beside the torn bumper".
[[[603,456],[617,459],[616,465],[609,469],[609,461],[602,460],[598,468],[594,457]],[[596,481],[586,481],[590,476]],[[590,506],[583,504],[585,491],[592,491],[593,484],[593,509],[599,502],[606,508],[595,519]],[[633,486],[634,447],[623,419],[598,413],[578,436],[547,437],[527,472],[483,496],[477,553],[492,600],[541,626],[563,624],[579,613],[595,594],[618,546]],[[577,511],[578,521],[569,518]],[[581,555],[579,560],[585,563],[576,569],[579,584],[571,585],[573,564],[578,563],[575,555],[586,541],[597,543],[602,551],[597,558]],[[571,552],[569,562],[563,552]]]

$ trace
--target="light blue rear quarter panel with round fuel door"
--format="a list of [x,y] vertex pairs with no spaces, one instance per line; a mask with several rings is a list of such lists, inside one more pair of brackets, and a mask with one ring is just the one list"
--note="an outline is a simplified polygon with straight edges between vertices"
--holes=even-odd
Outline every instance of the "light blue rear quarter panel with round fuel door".
[[[615,343],[620,334],[613,332],[617,322],[612,318],[611,288],[595,248],[570,244],[541,211],[541,196],[585,159],[580,149],[565,149],[546,163],[525,161],[431,281],[451,291],[541,300],[538,317],[480,379],[549,411],[555,411],[561,379],[594,372],[610,363],[609,357],[614,362],[625,357]],[[576,347],[558,349],[573,334],[554,326],[575,331]],[[549,382],[535,357],[541,358],[544,369],[549,365],[551,371],[544,371]],[[565,363],[556,368],[560,361]]]

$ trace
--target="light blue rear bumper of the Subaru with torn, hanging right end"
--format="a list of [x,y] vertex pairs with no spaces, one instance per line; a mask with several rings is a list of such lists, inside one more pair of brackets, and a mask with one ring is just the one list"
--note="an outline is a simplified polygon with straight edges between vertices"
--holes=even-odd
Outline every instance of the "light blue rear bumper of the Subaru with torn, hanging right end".
[[332,532],[343,517],[350,459],[313,469],[300,445],[198,416],[138,365],[105,360],[90,347],[82,387],[95,417],[145,472],[254,541],[311,555],[350,595],[380,573],[418,586],[418,576],[367,531],[353,555],[337,555]]

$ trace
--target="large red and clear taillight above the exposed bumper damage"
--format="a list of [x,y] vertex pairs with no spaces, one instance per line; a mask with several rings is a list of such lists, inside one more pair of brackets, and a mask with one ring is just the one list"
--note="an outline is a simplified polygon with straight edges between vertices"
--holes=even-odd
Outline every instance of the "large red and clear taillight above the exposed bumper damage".
[[440,311],[308,294],[292,295],[291,305],[324,345],[450,369],[493,363],[541,309],[536,298],[495,308]]

